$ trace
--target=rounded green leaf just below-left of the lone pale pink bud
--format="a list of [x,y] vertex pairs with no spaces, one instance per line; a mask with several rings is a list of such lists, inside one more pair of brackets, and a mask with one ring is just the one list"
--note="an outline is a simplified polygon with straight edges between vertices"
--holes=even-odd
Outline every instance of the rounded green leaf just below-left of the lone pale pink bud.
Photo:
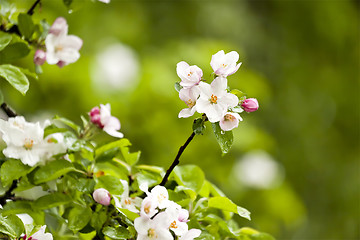
[[68,227],[77,232],[83,229],[90,222],[92,210],[89,207],[74,207],[70,210],[68,216]]

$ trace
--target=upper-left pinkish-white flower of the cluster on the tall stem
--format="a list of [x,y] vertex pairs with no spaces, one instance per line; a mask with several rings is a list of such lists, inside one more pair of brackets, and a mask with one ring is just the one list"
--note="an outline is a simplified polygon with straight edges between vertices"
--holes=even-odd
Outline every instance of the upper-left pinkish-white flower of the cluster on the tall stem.
[[203,75],[202,70],[198,66],[189,66],[184,61],[176,65],[176,72],[181,79],[180,85],[184,88],[191,88],[199,84]]

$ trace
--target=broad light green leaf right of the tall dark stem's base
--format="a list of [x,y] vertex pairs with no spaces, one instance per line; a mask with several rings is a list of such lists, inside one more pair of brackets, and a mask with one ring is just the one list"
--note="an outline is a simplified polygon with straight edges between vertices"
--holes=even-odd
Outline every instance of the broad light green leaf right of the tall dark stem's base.
[[175,181],[196,193],[199,193],[204,185],[204,172],[195,165],[177,166],[174,169]]

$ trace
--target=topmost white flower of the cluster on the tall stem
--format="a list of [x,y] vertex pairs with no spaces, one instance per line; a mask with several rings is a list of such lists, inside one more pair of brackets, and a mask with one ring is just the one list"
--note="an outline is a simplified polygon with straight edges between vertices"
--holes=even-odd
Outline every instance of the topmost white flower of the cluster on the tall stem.
[[238,60],[239,54],[237,52],[232,51],[225,54],[225,52],[221,50],[212,56],[210,65],[216,75],[227,77],[235,73],[241,66],[241,63],[236,65]]

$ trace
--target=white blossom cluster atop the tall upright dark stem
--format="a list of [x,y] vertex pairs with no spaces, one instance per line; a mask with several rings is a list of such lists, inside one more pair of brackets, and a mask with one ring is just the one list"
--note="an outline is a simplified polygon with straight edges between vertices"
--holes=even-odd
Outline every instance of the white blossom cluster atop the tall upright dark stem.
[[[235,94],[228,92],[227,84],[227,76],[235,73],[241,66],[241,63],[237,63],[238,60],[239,54],[235,51],[225,54],[221,50],[214,54],[210,65],[216,77],[210,84],[202,81],[203,72],[198,66],[179,62],[176,67],[182,87],[179,97],[188,106],[180,111],[179,118],[187,118],[199,112],[205,113],[211,123],[219,122],[223,131],[238,127],[239,121],[242,121],[239,113],[247,111],[247,108]],[[252,103],[254,101],[256,99],[251,100]]]

